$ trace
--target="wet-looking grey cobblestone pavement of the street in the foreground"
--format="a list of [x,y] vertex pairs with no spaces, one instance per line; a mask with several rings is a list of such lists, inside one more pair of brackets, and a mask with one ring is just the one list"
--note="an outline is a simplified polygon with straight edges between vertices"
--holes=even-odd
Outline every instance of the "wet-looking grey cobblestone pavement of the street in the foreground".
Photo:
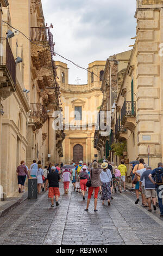
[[[163,245],[163,220],[135,205],[131,192],[114,194],[111,206],[98,200],[98,212],[89,212],[86,200],[72,191],[51,208],[47,192],[26,200],[0,218],[0,245]],[[87,198],[87,197],[86,197]]]

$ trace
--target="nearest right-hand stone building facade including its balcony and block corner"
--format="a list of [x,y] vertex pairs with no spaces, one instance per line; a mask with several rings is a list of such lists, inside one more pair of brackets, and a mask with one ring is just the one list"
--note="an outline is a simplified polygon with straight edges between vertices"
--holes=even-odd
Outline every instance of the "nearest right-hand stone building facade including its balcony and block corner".
[[126,141],[127,155],[111,159],[144,158],[154,168],[163,160],[162,146],[162,43],[163,2],[137,0],[136,40],[112,114],[112,141]]

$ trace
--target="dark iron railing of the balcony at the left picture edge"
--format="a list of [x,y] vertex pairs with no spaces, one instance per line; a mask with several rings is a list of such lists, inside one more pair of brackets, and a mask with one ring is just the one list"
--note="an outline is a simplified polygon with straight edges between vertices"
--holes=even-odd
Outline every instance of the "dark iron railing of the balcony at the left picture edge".
[[[5,69],[8,81],[16,85],[16,62],[7,38],[0,38],[0,68]],[[15,91],[15,89],[14,89]]]

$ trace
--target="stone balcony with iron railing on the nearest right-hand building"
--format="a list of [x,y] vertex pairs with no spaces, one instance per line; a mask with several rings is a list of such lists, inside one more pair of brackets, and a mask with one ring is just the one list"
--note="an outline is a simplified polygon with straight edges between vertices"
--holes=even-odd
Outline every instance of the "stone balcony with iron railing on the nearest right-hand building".
[[125,129],[133,131],[136,126],[136,102],[124,102],[121,109],[121,123]]

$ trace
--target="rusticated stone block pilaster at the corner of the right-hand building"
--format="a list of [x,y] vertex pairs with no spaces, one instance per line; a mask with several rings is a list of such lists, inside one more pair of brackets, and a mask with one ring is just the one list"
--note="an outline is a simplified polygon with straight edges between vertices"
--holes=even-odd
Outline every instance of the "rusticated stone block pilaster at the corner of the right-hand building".
[[[161,10],[161,9],[160,9]],[[137,124],[139,157],[147,161],[147,146],[151,147],[150,165],[161,160],[160,151],[160,87],[159,22],[160,10],[137,11]]]

